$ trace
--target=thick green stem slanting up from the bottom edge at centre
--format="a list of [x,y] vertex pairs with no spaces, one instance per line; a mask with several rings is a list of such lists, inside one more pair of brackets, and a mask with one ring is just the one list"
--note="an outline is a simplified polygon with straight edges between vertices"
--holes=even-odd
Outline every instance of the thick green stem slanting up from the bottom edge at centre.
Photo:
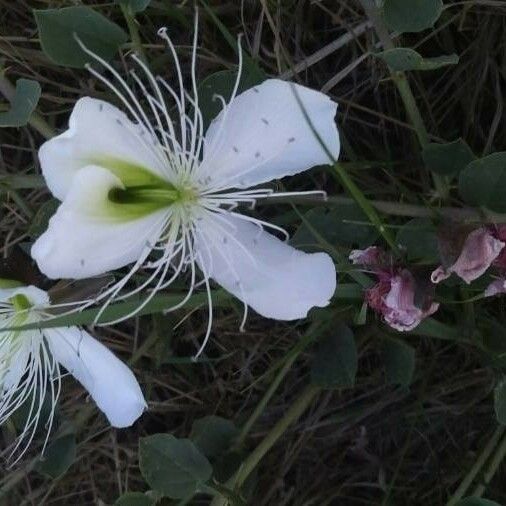
[[[307,386],[300,397],[292,404],[285,413],[285,416],[279,420],[270,430],[264,440],[253,450],[248,458],[242,463],[236,474],[227,481],[227,488],[240,488],[244,484],[248,476],[253,472],[258,463],[265,454],[274,446],[278,439],[285,433],[288,427],[300,418],[302,413],[311,404],[316,395],[320,392],[320,387]],[[211,506],[226,506],[228,500],[223,496],[216,496],[211,502]]]

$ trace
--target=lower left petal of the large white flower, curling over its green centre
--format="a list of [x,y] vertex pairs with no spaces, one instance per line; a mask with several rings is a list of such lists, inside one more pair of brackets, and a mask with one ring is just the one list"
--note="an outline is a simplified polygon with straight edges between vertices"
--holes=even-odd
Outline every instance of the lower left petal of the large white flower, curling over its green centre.
[[48,229],[32,247],[32,257],[47,277],[102,274],[138,260],[148,242],[156,241],[165,211],[130,220],[109,215],[107,196],[117,187],[119,179],[101,167],[77,172]]

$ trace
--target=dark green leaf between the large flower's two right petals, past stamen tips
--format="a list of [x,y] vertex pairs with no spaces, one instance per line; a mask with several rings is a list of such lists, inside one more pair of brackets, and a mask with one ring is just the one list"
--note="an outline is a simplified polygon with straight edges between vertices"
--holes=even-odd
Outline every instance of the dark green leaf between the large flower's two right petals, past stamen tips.
[[304,222],[300,225],[291,239],[294,246],[317,244],[311,227],[330,244],[343,246],[366,248],[378,237],[376,228],[371,226],[367,216],[354,202],[338,204],[332,209],[311,209],[304,219],[309,226]]

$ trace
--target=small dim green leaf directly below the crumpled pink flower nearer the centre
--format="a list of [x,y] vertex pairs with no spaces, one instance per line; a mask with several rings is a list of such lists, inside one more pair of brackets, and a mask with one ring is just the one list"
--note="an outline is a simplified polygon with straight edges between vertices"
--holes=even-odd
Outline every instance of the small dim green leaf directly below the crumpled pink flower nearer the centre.
[[415,349],[402,341],[386,339],[382,354],[387,382],[408,387],[415,372]]

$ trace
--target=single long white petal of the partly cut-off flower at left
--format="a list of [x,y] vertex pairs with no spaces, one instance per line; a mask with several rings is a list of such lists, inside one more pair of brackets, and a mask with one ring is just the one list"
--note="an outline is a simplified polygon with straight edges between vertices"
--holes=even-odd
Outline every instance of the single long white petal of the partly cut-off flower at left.
[[54,358],[83,385],[113,427],[129,427],[146,409],[132,371],[77,327],[44,329]]

